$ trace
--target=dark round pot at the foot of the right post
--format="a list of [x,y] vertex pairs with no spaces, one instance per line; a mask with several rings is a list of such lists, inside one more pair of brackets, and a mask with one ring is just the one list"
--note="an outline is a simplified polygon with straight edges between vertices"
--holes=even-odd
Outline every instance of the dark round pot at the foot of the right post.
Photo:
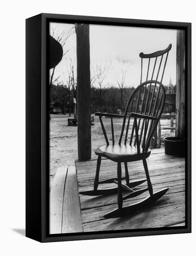
[[180,137],[164,138],[165,154],[184,156],[185,139]]

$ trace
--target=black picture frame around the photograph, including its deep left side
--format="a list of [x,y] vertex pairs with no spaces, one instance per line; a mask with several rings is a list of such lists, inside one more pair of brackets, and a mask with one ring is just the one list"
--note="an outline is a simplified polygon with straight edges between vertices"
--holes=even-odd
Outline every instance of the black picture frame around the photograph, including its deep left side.
[[[49,22],[185,30],[186,225],[185,227],[49,235]],[[26,236],[39,242],[149,236],[191,232],[191,23],[41,13],[26,19]]]

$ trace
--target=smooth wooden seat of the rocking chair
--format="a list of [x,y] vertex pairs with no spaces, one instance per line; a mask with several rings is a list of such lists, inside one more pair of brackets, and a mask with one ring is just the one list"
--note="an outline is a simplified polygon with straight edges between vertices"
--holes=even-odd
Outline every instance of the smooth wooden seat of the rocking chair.
[[150,149],[147,152],[142,152],[140,147],[140,152],[137,154],[137,147],[130,145],[104,145],[95,150],[96,155],[100,155],[111,159],[114,162],[132,162],[145,159],[149,157],[151,151]]

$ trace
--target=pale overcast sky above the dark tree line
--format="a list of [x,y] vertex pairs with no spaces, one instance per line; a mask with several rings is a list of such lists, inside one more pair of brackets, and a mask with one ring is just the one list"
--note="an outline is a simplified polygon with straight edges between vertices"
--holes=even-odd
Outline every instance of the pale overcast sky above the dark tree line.
[[[62,31],[68,31],[72,27],[74,27],[73,24],[50,23],[50,34],[55,30],[53,36],[57,38]],[[170,43],[172,44],[172,48],[168,56],[163,85],[169,84],[170,77],[172,83],[176,84],[176,30],[90,25],[91,76],[96,74],[96,65],[106,67],[103,87],[110,85],[118,87],[117,77],[118,80],[121,78],[122,70],[124,69],[127,70],[124,87],[137,87],[140,83],[141,74],[141,58],[139,54],[141,52],[149,54],[163,50]],[[65,84],[69,72],[70,60],[74,63],[76,77],[75,33],[66,41],[63,50],[64,53],[67,50],[69,51],[56,66],[54,79],[59,77],[59,81]],[[145,65],[147,65],[147,62],[144,63],[144,67]],[[93,86],[96,86],[96,82]]]

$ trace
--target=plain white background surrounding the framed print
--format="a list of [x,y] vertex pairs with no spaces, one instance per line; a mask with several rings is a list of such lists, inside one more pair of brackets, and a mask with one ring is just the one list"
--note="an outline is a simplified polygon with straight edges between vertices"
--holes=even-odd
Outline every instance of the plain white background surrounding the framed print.
[[[25,19],[62,13],[192,22],[193,141],[196,145],[196,13],[192,0],[2,1],[0,13],[0,254],[1,255],[194,255],[196,189],[192,234],[144,236],[41,244],[22,236],[25,228]],[[195,148],[195,147],[194,147]],[[192,181],[196,181],[192,149]]]

